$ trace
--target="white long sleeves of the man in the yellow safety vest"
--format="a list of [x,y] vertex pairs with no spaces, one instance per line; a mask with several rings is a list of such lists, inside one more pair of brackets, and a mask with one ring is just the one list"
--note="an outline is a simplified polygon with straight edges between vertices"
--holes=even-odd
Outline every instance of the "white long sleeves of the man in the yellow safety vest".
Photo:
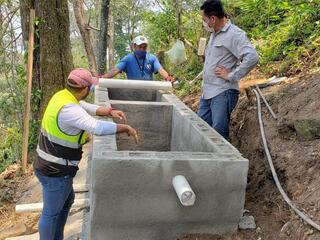
[[[81,130],[94,135],[115,134],[117,125],[113,122],[95,119],[98,105],[80,101],[79,104],[67,104],[63,106],[58,115],[60,129],[70,135],[79,134]],[[92,116],[91,116],[92,115]]]

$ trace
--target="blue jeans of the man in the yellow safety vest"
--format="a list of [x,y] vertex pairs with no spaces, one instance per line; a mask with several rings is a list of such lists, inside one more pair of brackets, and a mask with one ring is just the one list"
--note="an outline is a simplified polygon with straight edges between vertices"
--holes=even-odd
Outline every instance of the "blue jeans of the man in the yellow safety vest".
[[64,226],[74,202],[73,177],[47,177],[35,171],[42,185],[43,210],[39,220],[40,240],[63,240]]

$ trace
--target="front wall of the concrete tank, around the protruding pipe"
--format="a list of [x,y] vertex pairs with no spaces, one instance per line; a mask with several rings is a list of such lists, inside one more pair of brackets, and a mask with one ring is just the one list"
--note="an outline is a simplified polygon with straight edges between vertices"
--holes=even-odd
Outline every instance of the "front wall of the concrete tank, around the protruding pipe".
[[[91,239],[174,240],[237,229],[248,168],[240,157],[106,152],[92,167]],[[180,174],[196,193],[193,207],[183,207],[172,187]]]

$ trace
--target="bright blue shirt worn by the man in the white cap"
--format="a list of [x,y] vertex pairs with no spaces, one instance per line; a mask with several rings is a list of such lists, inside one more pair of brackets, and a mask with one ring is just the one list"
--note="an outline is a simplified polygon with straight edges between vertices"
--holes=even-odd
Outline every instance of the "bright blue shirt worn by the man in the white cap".
[[153,73],[159,72],[161,64],[158,58],[151,53],[147,53],[144,59],[137,58],[130,53],[120,60],[117,68],[125,72],[128,79],[153,80]]

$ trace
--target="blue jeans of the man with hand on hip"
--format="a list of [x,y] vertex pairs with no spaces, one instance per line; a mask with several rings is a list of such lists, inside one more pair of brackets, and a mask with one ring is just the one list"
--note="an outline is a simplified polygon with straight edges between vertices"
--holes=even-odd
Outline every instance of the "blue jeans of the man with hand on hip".
[[201,97],[198,116],[228,140],[230,116],[238,99],[239,91],[236,89],[226,90],[210,99]]

